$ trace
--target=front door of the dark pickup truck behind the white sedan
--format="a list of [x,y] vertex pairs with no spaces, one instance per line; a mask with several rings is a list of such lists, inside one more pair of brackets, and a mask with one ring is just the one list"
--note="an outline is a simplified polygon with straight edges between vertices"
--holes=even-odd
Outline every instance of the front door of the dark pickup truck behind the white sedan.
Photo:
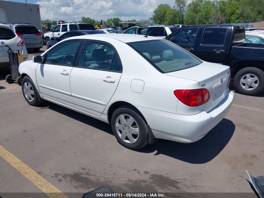
[[199,28],[186,28],[169,35],[166,39],[195,54],[199,33]]

